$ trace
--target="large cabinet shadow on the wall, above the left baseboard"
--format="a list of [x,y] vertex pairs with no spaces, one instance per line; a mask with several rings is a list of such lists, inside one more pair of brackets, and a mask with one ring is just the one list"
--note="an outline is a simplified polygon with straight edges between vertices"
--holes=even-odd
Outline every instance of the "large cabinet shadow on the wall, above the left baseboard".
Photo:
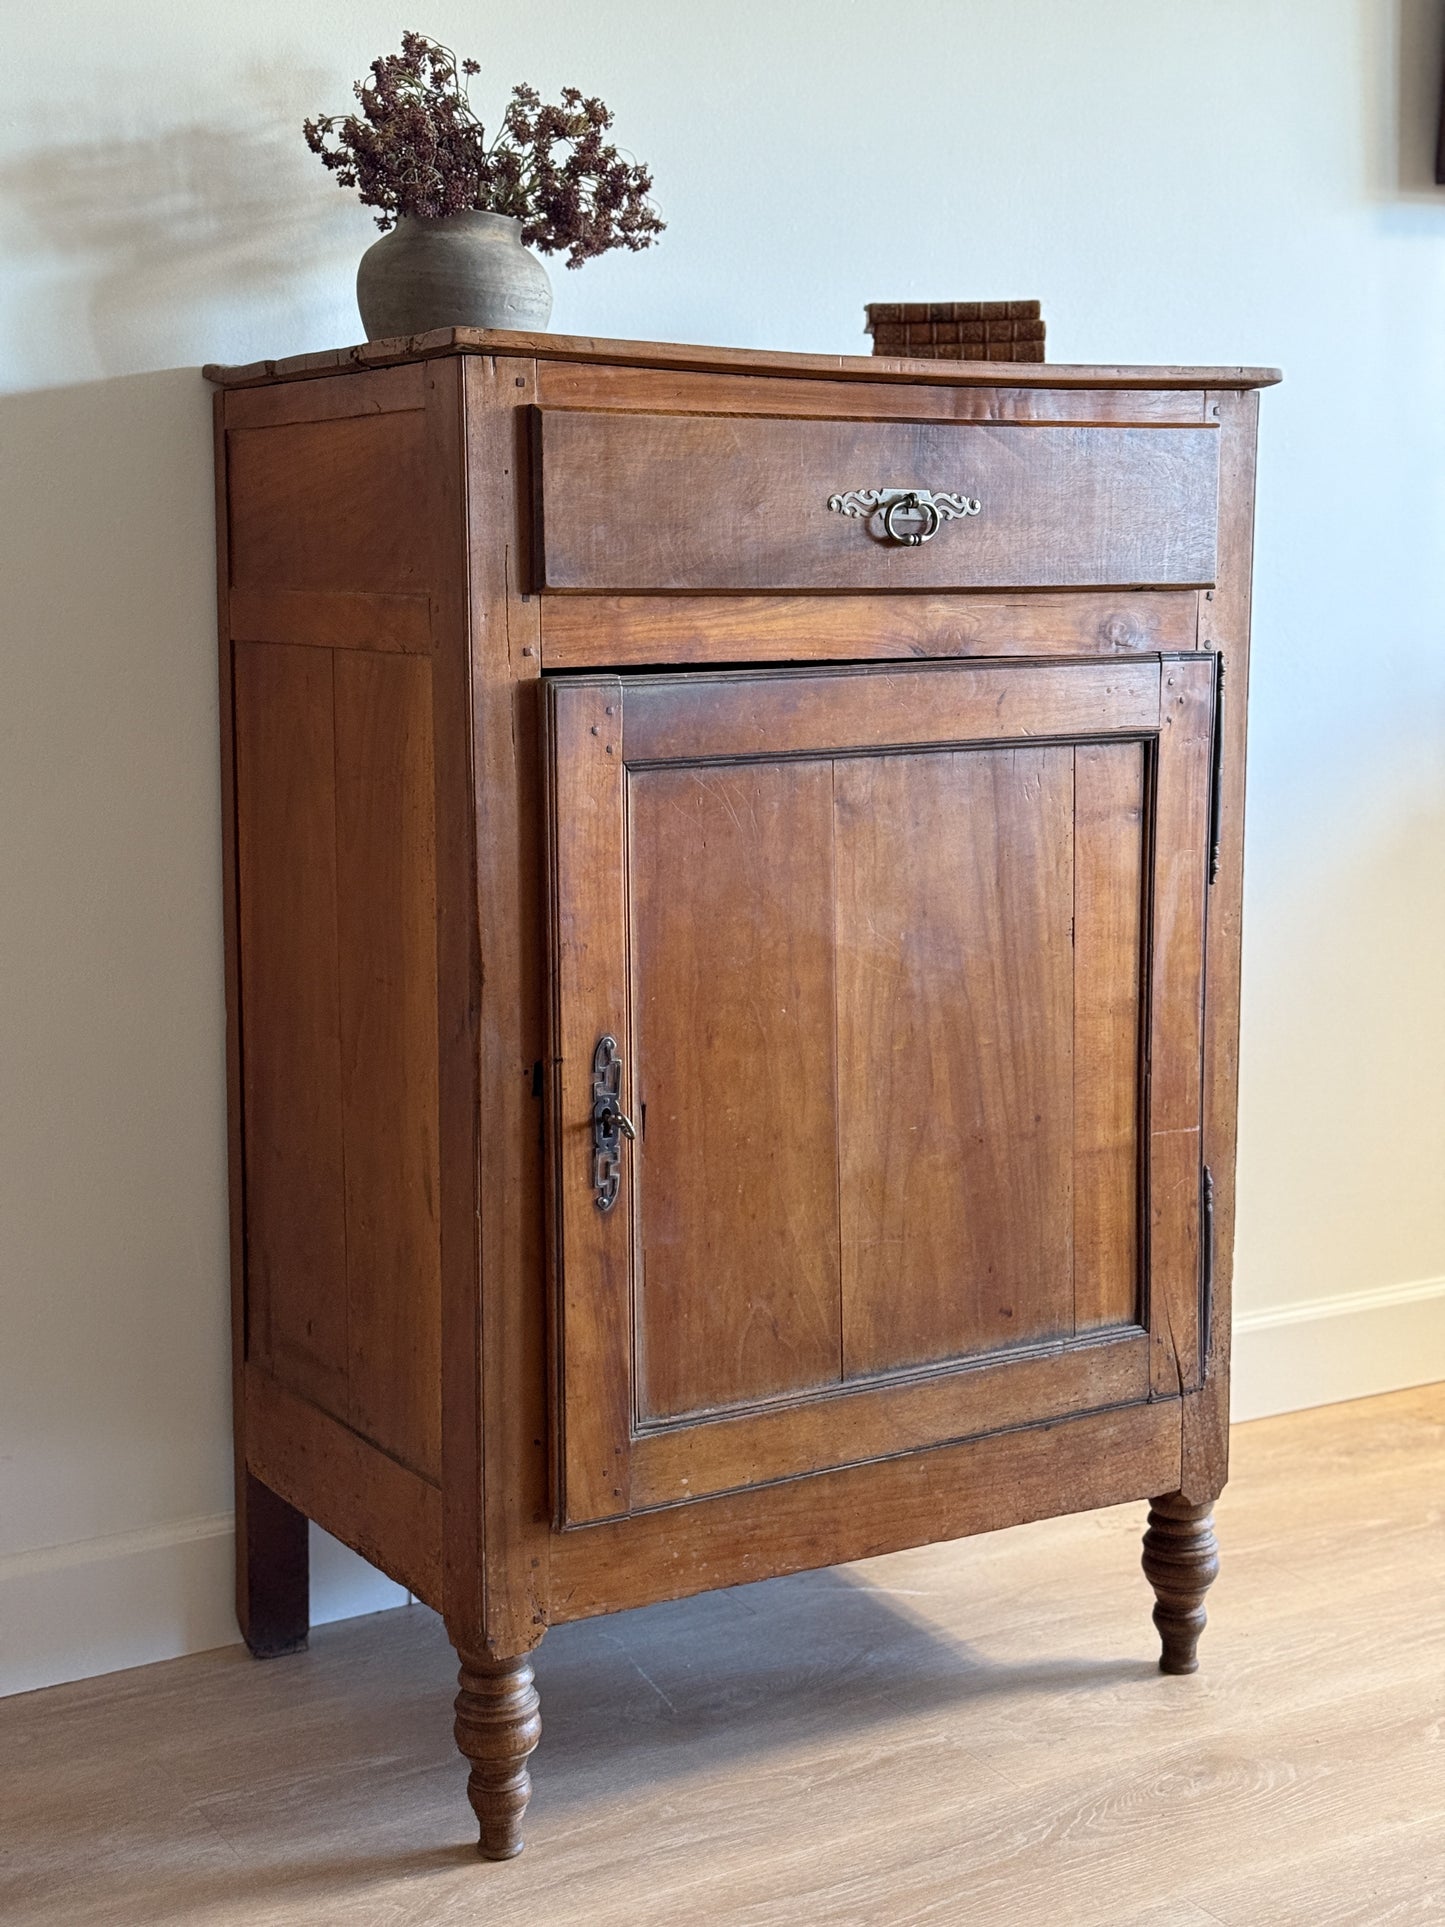
[[8,1547],[220,1513],[225,1135],[210,407],[0,399]]

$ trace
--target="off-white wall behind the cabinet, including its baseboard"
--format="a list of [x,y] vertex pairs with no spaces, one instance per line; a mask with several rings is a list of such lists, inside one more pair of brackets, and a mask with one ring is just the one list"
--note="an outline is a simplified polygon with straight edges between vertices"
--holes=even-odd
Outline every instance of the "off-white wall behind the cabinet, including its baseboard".
[[[670,222],[563,331],[861,351],[1038,295],[1056,360],[1264,397],[1241,1407],[1445,1376],[1439,0],[10,0],[0,123],[0,1686],[229,1619],[202,360],[356,339],[299,121],[414,19],[618,112]],[[339,1549],[320,1613],[397,1597]]]

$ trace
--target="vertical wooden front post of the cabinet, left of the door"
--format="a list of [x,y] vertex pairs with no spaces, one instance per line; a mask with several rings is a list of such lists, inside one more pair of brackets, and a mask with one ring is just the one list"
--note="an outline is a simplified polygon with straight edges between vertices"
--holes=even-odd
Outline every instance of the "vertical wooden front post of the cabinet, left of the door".
[[[547,1052],[543,964],[543,825],[536,601],[528,601],[528,360],[468,360],[460,370],[464,443],[447,449],[464,474],[470,622],[470,796],[476,873],[480,1214],[476,1339],[480,1445],[468,1395],[459,1405],[459,1476],[482,1478],[482,1611],[468,1632],[462,1597],[447,1624],[472,1653],[528,1651],[547,1623],[547,1303],[541,1095]],[[455,420],[443,416],[443,422]],[[459,1322],[466,1305],[457,1307]],[[468,1368],[478,1360],[472,1351]],[[470,1470],[468,1470],[470,1468]],[[451,1488],[451,1474],[447,1474]],[[1162,1488],[1160,1488],[1162,1490]],[[468,1505],[462,1499],[462,1505]],[[457,1518],[459,1576],[476,1561],[466,1513]],[[451,1526],[449,1526],[451,1538]],[[451,1549],[449,1549],[451,1557]]]

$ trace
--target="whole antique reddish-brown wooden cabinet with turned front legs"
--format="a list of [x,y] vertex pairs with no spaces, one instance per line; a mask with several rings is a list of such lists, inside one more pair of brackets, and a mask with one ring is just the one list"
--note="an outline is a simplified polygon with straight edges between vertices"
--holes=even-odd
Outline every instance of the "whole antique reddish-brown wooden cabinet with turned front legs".
[[218,383],[239,1613],[460,1655],[1225,1478],[1250,368],[447,331]]

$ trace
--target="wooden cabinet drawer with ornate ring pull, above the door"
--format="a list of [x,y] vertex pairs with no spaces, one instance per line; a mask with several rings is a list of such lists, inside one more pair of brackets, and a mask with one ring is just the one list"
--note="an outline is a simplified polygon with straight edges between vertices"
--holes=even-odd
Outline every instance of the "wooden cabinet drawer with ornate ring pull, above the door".
[[[547,590],[1198,588],[1216,574],[1216,428],[543,409],[538,434]],[[927,499],[913,509],[898,499],[909,491]]]

